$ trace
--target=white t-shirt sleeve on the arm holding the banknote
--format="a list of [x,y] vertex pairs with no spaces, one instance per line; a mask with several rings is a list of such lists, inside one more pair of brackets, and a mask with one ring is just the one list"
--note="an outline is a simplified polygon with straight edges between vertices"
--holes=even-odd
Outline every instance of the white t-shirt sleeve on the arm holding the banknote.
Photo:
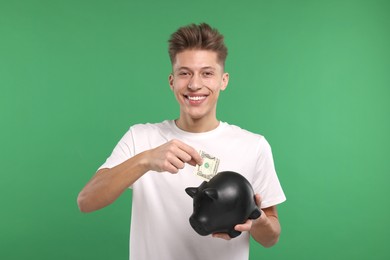
[[134,140],[132,128],[130,128],[126,134],[120,139],[118,144],[115,146],[111,155],[107,158],[105,163],[99,167],[98,170],[103,168],[112,168],[121,164],[134,156]]

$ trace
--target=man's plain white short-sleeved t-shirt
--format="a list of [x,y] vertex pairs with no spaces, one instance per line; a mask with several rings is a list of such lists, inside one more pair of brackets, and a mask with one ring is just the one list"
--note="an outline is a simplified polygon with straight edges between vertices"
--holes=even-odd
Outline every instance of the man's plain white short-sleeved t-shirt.
[[[134,125],[99,169],[112,168],[172,139],[219,158],[218,172],[235,171],[246,177],[260,194],[262,208],[286,200],[265,138],[224,122],[205,133],[185,132],[168,120]],[[190,226],[192,198],[184,190],[203,182],[193,171],[188,164],[178,174],[150,171],[133,184],[131,260],[248,259],[248,232],[225,241],[200,236]]]

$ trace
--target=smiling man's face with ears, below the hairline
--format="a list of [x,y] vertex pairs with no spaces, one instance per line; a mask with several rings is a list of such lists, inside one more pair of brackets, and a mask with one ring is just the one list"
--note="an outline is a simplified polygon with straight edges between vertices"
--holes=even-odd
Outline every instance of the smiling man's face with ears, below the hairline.
[[169,85],[180,105],[179,120],[216,121],[219,92],[229,81],[217,53],[186,50],[176,55],[172,67]]

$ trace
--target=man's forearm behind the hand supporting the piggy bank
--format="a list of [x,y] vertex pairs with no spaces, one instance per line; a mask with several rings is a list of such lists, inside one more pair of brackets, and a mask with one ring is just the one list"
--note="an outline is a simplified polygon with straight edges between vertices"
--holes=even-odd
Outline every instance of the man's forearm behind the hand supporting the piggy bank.
[[252,237],[264,247],[275,245],[280,236],[280,223],[277,214],[272,214],[273,209],[265,209],[260,218],[253,221],[250,233]]

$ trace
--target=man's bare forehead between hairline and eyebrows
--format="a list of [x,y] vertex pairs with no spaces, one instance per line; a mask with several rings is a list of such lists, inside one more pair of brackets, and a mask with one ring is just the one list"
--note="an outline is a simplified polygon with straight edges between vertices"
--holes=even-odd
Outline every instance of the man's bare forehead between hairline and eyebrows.
[[214,51],[208,50],[185,50],[176,54],[173,69],[189,68],[193,70],[211,67],[215,69],[222,68],[218,62],[218,55]]

